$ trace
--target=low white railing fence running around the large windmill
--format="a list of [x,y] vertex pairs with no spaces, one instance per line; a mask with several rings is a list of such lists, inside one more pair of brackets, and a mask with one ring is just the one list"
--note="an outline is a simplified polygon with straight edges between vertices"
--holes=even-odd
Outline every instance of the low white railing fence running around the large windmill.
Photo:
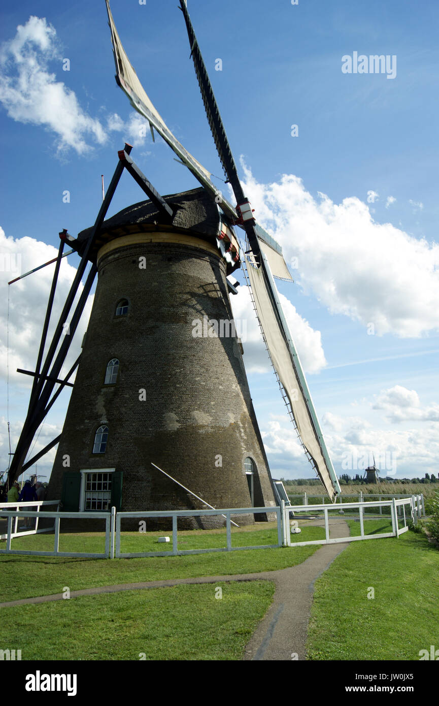
[[[270,508],[227,508],[216,510],[169,510],[168,512],[136,512],[136,513],[116,513],[116,508],[112,508],[110,513],[100,512],[84,512],[84,513],[61,513],[43,512],[40,513],[40,507],[44,504],[54,504],[58,501],[43,501],[40,503],[20,503],[28,508],[31,504],[39,505],[37,511],[20,510],[13,505],[15,510],[11,510],[11,504],[8,503],[8,510],[1,507],[0,518],[7,518],[7,532],[1,535],[1,539],[6,539],[5,549],[0,549],[0,554],[29,554],[34,556],[78,556],[90,558],[128,558],[128,557],[148,557],[148,556],[181,556],[184,554],[205,554],[213,551],[240,551],[245,549],[274,549],[279,546],[304,546],[306,544],[337,544],[342,542],[357,542],[361,539],[379,539],[385,537],[399,537],[399,534],[407,532],[407,520],[411,520],[416,525],[418,518],[423,513],[423,504],[421,496],[411,496],[410,498],[395,499],[388,501],[363,501],[362,503],[343,503],[343,510],[354,510],[359,512],[360,535],[359,537],[330,537],[330,517],[329,513],[340,513],[338,504],[320,505],[285,505],[282,501],[281,506]],[[4,503],[5,504],[5,503]],[[365,508],[390,508],[392,518],[392,532],[383,534],[365,534],[364,533],[364,510]],[[401,511],[402,517],[398,517],[398,511]],[[315,512],[323,512],[325,520],[325,539],[314,539],[308,542],[291,542],[291,532],[289,527],[290,513],[294,513],[294,517],[300,519],[299,513],[309,513],[310,510]],[[255,515],[257,513],[276,513],[277,517],[277,544],[261,544],[250,546],[231,546],[231,516],[232,515]],[[298,513],[296,515],[296,513]],[[54,519],[54,526],[43,528],[42,530],[30,530],[28,532],[16,532],[17,518],[20,516],[35,518],[36,524],[38,518],[46,520],[47,518]],[[225,546],[210,547],[208,549],[179,549],[178,546],[178,519],[179,517],[212,517],[214,515],[224,515],[226,522],[226,537]],[[154,517],[170,517],[172,518],[172,549],[170,551],[144,551],[144,552],[121,552],[121,520],[124,518],[138,518],[139,520],[147,520]],[[339,517],[339,515],[336,515]],[[105,520],[105,542],[104,551],[102,552],[86,552],[86,551],[59,551],[59,534],[61,520],[76,519],[76,520]],[[402,521],[403,526],[399,527],[399,521]],[[294,520],[296,522],[296,520]],[[23,537],[25,534],[37,534],[37,532],[54,532],[53,549],[33,550],[33,549],[12,549],[11,540],[15,537]]]

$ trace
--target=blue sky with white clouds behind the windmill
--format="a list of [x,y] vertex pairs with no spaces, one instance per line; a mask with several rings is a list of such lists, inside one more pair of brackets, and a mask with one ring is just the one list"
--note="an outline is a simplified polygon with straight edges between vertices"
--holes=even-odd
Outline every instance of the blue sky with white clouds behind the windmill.
[[[111,6],[152,102],[186,148],[222,177],[176,3],[112,0]],[[394,477],[438,474],[437,3],[189,0],[188,8],[236,161],[243,156],[241,176],[255,215],[282,243],[287,261],[299,258],[294,284],[278,287],[291,303],[292,333],[337,472],[350,472],[342,462],[349,464],[354,451],[375,450],[383,458],[393,453]],[[116,152],[124,139],[136,138],[138,122],[114,80],[104,0],[5,1],[1,16],[0,227],[5,251],[21,253],[25,271],[49,258],[42,244],[57,246],[62,228],[76,235],[95,220],[101,174],[108,184]],[[40,24],[28,25],[30,16]],[[20,66],[17,44],[8,44],[18,25],[29,35],[20,45]],[[45,50],[35,43],[42,37]],[[396,56],[395,78],[342,73],[342,56],[354,52]],[[62,68],[66,58],[70,71]],[[215,71],[218,58],[222,71]],[[54,108],[38,104],[29,89],[13,94],[13,77],[29,75],[30,61],[37,61],[44,85],[57,87]],[[72,115],[78,121],[66,139]],[[292,124],[298,137],[291,136]],[[134,141],[133,158],[161,193],[197,185],[160,138]],[[70,203],[63,203],[65,190]],[[141,200],[126,174],[109,213]],[[0,275],[6,301],[11,277]],[[35,297],[42,316],[49,275],[33,284],[29,277],[13,291],[11,285],[13,433],[24,418],[28,381],[11,371],[35,345],[29,304]],[[247,316],[240,297],[236,315]],[[5,307],[1,324],[5,352]],[[253,342],[250,318],[249,330],[244,360],[272,474],[311,476],[282,416],[272,373],[255,372],[267,361]],[[62,426],[65,405],[48,419],[45,443]],[[1,441],[3,469],[4,424]],[[48,472],[50,461],[39,467]]]

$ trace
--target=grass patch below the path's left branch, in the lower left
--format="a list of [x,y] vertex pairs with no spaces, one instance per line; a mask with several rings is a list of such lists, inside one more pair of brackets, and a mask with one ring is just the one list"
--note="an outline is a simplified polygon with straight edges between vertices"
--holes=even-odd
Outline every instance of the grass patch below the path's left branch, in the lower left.
[[[275,591],[271,581],[178,586],[4,608],[1,644],[23,660],[241,659]],[[194,619],[196,618],[196,619]]]

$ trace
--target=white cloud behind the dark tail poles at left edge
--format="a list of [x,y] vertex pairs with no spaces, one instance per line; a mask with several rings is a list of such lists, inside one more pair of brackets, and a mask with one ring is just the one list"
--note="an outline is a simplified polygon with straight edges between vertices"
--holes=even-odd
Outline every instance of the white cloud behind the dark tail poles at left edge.
[[[54,248],[54,246],[47,245],[35,240],[34,238],[23,237],[20,239],[13,239],[12,237],[6,237],[4,230],[0,227],[0,286],[5,292],[4,297],[1,297],[0,299],[0,378],[4,383],[6,383],[6,365],[8,362],[9,399],[11,410],[10,416],[12,419],[11,438],[13,448],[15,448],[15,443],[18,441],[20,429],[23,426],[22,421],[18,423],[13,421],[13,418],[19,417],[22,420],[24,419],[25,410],[27,409],[29,402],[30,388],[32,386],[32,378],[24,375],[23,373],[17,373],[16,370],[17,368],[29,371],[35,370],[37,352],[40,347],[42,326],[44,323],[44,316],[46,313],[47,301],[49,299],[49,291],[52,285],[55,265],[48,265],[46,268],[43,268],[36,273],[32,273],[32,275],[25,277],[23,280],[14,282],[13,285],[9,285],[8,292],[7,283],[15,277],[18,277],[21,273],[28,272],[38,265],[42,265],[44,262],[51,260],[56,257],[56,254],[57,249]],[[73,260],[71,259],[72,263],[76,264],[78,262],[78,257],[76,255],[73,254],[69,257],[73,258]],[[75,275],[76,268],[68,263],[68,258],[64,258],[61,261],[47,342],[52,340],[54,327],[59,321],[67,292],[71,287],[71,282],[73,282],[73,277]],[[80,285],[76,299],[73,301],[71,313],[74,311],[76,302],[78,301],[78,297],[80,297],[82,290],[83,287]],[[7,322],[8,295],[9,322]],[[63,378],[66,375],[66,372],[71,368],[73,362],[80,354],[80,344],[87,328],[88,319],[90,318],[92,299],[93,297],[90,296],[85,305],[83,316],[80,319],[75,336],[73,337],[66,362],[61,369],[61,373],[59,374],[60,378]],[[68,321],[70,321],[70,317],[68,318]],[[7,328],[9,331],[9,350],[7,349]],[[48,345],[46,345],[46,351],[47,347]],[[70,381],[73,382],[74,379],[75,373],[73,373]],[[68,390],[69,388],[66,389]],[[64,397],[66,394],[68,393],[64,391]],[[53,407],[54,415],[56,415],[57,409],[62,408],[61,399],[59,407],[57,405],[58,403],[56,403]],[[52,414],[52,412],[49,414]],[[62,418],[64,419],[64,411],[62,412]],[[35,443],[35,453],[43,448],[44,445],[49,443],[49,441],[51,441],[52,438],[57,436],[60,432],[61,428],[56,425],[54,426],[54,424],[47,419],[42,428],[40,438],[37,443]],[[53,455],[54,450],[50,453]],[[44,459],[41,460],[39,466],[44,465],[44,467],[50,467],[49,462],[52,459],[52,455],[47,455],[47,457],[44,456]],[[0,462],[2,469],[8,467],[6,421],[2,422],[0,427]]]

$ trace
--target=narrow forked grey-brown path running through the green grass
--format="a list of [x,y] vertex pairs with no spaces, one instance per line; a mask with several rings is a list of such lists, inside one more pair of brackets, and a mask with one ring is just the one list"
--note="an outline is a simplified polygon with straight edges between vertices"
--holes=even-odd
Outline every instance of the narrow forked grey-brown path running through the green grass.
[[[325,523],[323,520],[315,520],[309,524],[321,527]],[[334,539],[349,536],[349,527],[342,518],[330,520],[330,530],[331,537]],[[181,584],[212,584],[230,581],[258,581],[261,579],[274,581],[276,590],[272,605],[259,623],[255,633],[253,633],[250,642],[248,642],[243,659],[261,659],[264,661],[305,659],[306,636],[313,601],[314,582],[346,547],[347,544],[324,544],[301,564],[277,571],[97,586],[95,588],[71,591],[70,597],[76,598],[102,593],[164,588]],[[60,600],[63,600],[63,594],[56,593],[49,596],[23,598],[17,601],[0,603],[0,608]],[[297,657],[291,656],[294,654]]]

